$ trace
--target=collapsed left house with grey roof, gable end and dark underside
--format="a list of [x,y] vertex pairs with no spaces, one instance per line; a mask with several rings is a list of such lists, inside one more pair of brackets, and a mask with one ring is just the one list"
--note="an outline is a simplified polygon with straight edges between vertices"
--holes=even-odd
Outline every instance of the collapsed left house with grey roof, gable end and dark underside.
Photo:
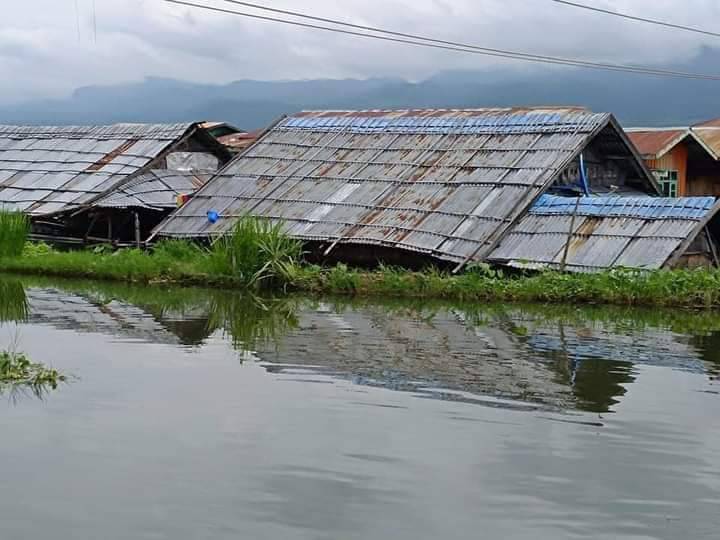
[[28,214],[40,236],[134,237],[134,216],[113,222],[92,203],[150,171],[211,174],[229,159],[197,123],[0,126],[0,209]]

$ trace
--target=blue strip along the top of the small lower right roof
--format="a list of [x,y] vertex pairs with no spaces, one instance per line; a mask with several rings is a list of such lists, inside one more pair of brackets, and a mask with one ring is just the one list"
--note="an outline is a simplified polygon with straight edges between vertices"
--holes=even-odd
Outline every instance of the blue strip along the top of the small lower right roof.
[[[700,220],[715,205],[715,197],[574,197],[543,195],[530,209],[536,215],[635,217]],[[577,208],[576,208],[577,205]]]

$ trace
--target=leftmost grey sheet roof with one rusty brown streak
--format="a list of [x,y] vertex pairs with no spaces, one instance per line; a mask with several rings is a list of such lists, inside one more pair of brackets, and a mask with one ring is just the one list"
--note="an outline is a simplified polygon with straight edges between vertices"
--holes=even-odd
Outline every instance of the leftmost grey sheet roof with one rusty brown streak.
[[0,126],[0,208],[76,208],[148,166],[196,124]]

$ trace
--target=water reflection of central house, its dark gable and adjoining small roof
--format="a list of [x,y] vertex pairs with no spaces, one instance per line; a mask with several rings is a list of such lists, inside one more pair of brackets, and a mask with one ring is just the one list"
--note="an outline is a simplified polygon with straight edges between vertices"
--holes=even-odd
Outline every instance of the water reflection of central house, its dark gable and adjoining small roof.
[[425,318],[414,311],[362,307],[306,310],[300,326],[260,353],[273,371],[330,371],[399,390],[450,389],[605,412],[635,381],[636,364],[704,372],[694,348],[661,329],[553,321],[519,308]]

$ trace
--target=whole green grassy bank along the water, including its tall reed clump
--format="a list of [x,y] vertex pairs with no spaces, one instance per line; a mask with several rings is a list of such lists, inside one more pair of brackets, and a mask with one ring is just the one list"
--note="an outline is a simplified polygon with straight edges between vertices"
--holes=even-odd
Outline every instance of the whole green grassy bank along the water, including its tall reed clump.
[[8,244],[12,253],[0,249],[0,271],[24,275],[463,302],[720,307],[718,270],[509,276],[480,265],[455,276],[435,269],[328,268],[304,263],[298,242],[280,227],[252,219],[240,220],[233,234],[211,249],[178,240],[162,242],[152,252],[105,247],[59,252],[26,244],[18,255],[17,239]]

